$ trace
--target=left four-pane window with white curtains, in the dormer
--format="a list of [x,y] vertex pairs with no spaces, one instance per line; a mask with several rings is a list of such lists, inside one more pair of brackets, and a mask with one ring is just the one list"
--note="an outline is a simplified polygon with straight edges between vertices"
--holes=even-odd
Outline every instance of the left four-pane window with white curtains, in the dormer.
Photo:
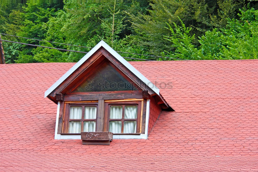
[[95,132],[97,104],[69,105],[68,133]]

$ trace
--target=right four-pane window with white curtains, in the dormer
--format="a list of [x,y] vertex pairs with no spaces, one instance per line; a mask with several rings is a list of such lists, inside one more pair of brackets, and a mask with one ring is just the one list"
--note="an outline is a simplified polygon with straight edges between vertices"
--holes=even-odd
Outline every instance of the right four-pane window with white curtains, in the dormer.
[[[128,102],[127,102],[128,103]],[[108,106],[108,131],[114,134],[139,132],[140,104],[137,102],[112,104]]]

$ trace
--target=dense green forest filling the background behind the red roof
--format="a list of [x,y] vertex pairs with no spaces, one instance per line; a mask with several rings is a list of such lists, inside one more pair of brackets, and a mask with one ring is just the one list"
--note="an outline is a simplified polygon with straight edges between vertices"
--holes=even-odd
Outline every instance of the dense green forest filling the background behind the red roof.
[[[3,40],[83,52],[90,48],[80,46],[93,47],[104,40],[116,51],[136,53],[120,53],[123,57],[140,59],[257,59],[257,4],[255,0],[0,0],[0,33],[37,39],[2,35]],[[84,56],[9,42],[3,46],[7,63],[77,62]]]

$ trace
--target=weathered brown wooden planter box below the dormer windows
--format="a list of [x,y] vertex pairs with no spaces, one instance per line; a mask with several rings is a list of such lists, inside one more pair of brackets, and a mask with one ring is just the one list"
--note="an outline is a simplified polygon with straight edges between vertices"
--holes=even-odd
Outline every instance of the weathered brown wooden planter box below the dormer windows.
[[83,145],[110,145],[112,132],[81,132]]

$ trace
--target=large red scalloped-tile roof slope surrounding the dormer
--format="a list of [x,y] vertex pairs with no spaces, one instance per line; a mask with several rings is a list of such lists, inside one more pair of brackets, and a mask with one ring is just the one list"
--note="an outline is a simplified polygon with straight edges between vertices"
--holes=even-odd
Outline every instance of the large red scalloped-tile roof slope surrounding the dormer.
[[10,64],[0,65],[0,152],[258,157],[258,60],[130,63],[175,110],[160,114],[147,140],[115,139],[109,146],[54,140],[57,105],[44,92],[74,63]]

